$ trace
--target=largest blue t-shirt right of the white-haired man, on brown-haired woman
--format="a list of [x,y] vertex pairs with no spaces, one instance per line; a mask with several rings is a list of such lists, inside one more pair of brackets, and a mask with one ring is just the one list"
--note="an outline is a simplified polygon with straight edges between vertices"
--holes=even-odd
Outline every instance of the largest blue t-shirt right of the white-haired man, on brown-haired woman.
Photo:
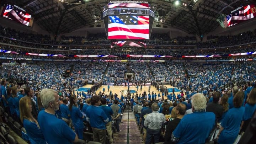
[[239,133],[240,124],[244,115],[244,107],[231,108],[222,120],[224,128],[220,133],[219,144],[233,144]]

